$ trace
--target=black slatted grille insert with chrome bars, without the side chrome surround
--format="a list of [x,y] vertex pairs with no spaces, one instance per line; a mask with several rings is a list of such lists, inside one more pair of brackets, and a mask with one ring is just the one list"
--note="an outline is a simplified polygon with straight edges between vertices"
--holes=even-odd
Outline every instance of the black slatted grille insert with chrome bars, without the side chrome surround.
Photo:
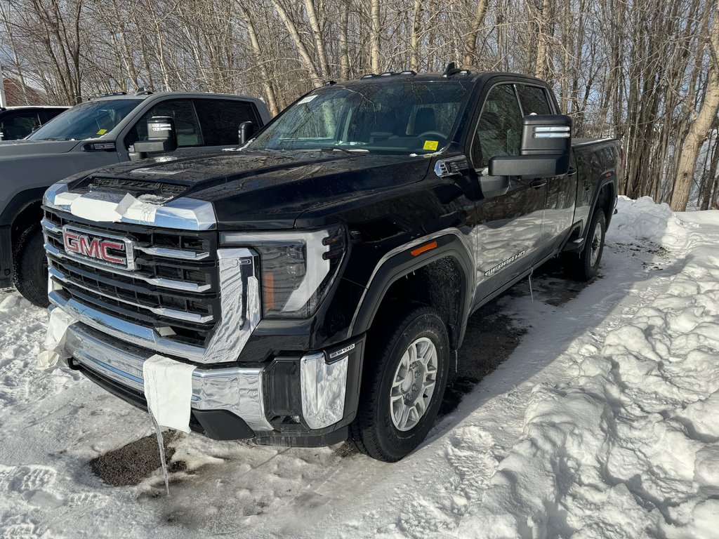
[[[86,224],[45,208],[42,229],[50,278],[65,300],[140,326],[170,341],[204,346],[220,318],[216,233],[113,223]],[[65,252],[63,226],[134,243],[134,270]]]

